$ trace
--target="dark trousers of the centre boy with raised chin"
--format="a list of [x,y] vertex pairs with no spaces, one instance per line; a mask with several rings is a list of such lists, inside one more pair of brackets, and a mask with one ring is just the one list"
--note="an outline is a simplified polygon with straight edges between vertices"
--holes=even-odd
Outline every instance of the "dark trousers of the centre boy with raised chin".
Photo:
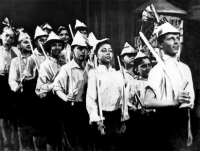
[[119,109],[112,112],[103,111],[103,117],[105,118],[103,121],[106,132],[105,135],[100,135],[96,123],[92,124],[92,138],[95,150],[124,150],[124,134],[120,133],[122,126],[121,110]]

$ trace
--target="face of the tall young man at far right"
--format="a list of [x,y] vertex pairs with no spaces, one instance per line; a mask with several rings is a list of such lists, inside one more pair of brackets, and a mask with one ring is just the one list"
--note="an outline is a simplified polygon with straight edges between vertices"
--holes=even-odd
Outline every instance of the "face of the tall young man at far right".
[[175,56],[180,47],[180,36],[179,34],[166,34],[165,38],[161,42],[163,50],[166,54],[170,56]]

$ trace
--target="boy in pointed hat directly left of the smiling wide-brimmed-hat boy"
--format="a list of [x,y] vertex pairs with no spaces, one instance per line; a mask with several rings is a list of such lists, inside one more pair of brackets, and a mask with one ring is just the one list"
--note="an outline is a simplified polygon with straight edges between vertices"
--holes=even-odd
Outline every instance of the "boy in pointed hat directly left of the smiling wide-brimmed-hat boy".
[[[32,104],[32,127],[33,127],[33,142],[35,145],[35,149],[38,148],[37,141],[39,137],[39,131],[37,128],[37,121],[39,118],[39,113],[35,111],[37,109],[38,105],[40,104],[40,98],[35,94],[35,87],[36,87],[36,80],[37,80],[37,73],[40,69],[40,65],[42,62],[45,61],[45,55],[42,51],[42,48],[40,47],[40,44],[45,48],[45,42],[47,40],[47,33],[44,32],[39,26],[37,26],[35,30],[35,37],[34,41],[36,44],[36,48],[34,49],[33,53],[30,57],[27,59],[27,64],[25,67],[25,70],[23,72],[23,75],[25,77],[23,87],[24,91],[26,91],[27,95],[30,97],[30,104]],[[36,61],[36,62],[35,62]]]

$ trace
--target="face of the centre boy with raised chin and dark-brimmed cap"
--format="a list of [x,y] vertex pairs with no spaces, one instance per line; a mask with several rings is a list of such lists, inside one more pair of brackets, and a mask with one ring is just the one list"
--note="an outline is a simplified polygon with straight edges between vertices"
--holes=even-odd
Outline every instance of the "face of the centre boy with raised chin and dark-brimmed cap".
[[97,57],[101,64],[108,64],[113,58],[113,51],[110,44],[103,44],[97,52]]

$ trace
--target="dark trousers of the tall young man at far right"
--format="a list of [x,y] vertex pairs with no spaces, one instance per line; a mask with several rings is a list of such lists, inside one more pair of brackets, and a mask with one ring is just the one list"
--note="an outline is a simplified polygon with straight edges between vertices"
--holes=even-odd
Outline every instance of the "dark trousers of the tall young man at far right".
[[152,150],[176,151],[187,142],[187,109],[157,109],[153,119]]

